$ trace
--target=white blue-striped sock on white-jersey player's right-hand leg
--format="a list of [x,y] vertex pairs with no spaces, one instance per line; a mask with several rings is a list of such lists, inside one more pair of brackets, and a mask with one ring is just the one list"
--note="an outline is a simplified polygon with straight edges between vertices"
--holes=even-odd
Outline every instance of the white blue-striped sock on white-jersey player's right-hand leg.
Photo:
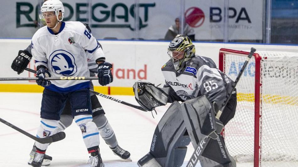
[[92,115],[77,115],[74,117],[76,124],[82,131],[82,136],[86,148],[99,145],[99,133],[97,126],[92,121]]

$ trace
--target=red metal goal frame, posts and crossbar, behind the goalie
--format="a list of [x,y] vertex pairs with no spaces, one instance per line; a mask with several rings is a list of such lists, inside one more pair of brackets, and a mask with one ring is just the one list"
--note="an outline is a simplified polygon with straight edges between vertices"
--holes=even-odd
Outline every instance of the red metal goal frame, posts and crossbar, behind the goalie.
[[[221,48],[219,51],[219,69],[225,72],[225,54],[233,54],[248,57],[249,52]],[[262,115],[262,79],[261,79],[261,60],[262,57],[258,53],[254,53],[255,58],[255,92],[254,92],[254,146],[253,146],[253,166],[260,166],[261,159],[261,115]],[[236,86],[237,89],[237,86]],[[237,112],[237,111],[236,111]],[[223,136],[224,136],[223,132]]]

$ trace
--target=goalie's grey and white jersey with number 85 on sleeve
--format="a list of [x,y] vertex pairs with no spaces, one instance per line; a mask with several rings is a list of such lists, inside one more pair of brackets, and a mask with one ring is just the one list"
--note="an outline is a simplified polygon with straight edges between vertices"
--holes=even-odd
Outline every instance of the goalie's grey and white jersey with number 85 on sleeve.
[[[175,100],[184,102],[206,95],[211,102],[216,101],[222,106],[233,84],[230,78],[216,68],[212,59],[198,55],[187,61],[179,72],[175,72],[169,60],[162,66],[162,74],[166,81],[164,87],[172,88],[168,103]],[[233,93],[236,94],[236,91]]]

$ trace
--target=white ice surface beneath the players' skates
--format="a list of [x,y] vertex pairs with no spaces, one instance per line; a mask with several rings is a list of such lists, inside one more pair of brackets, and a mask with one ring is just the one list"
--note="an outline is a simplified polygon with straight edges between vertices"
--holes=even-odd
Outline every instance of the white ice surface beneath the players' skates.
[[[35,135],[40,124],[41,97],[41,93],[0,93],[0,118]],[[137,105],[133,96],[113,97]],[[151,112],[143,112],[102,97],[98,99],[114,129],[119,145],[130,152],[132,159],[132,162],[120,159],[113,154],[104,140],[100,139],[99,147],[105,166],[137,167],[136,162],[149,152],[155,127],[169,104],[157,108],[157,115],[153,119]],[[34,141],[3,123],[0,123],[0,129],[0,167],[29,166],[27,161]],[[73,122],[65,133],[64,140],[51,144],[46,151],[53,157],[50,166],[90,166],[86,164],[88,152],[77,125]],[[183,166],[186,166],[193,151],[190,144]],[[237,167],[252,167],[252,163],[237,164]]]

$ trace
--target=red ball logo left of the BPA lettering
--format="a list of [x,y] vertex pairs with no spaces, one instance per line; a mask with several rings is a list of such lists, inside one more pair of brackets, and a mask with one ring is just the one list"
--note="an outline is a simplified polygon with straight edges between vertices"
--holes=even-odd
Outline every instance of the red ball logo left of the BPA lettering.
[[185,22],[189,24],[190,27],[200,27],[205,20],[204,12],[197,7],[191,7],[184,13]]

